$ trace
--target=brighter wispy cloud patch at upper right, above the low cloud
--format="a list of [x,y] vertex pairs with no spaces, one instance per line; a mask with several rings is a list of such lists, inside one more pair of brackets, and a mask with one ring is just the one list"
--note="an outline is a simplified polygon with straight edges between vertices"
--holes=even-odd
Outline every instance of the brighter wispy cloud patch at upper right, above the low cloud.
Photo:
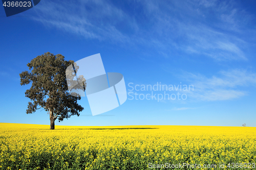
[[206,26],[185,27],[190,43],[184,45],[184,50],[190,53],[212,57],[217,60],[247,60],[233,36],[214,31]]

